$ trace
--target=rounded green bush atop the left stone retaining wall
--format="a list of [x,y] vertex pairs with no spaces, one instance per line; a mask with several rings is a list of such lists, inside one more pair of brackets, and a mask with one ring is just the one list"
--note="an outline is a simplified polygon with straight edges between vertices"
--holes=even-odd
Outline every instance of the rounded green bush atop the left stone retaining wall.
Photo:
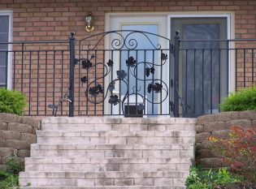
[[0,113],[24,114],[26,97],[21,92],[0,89]]

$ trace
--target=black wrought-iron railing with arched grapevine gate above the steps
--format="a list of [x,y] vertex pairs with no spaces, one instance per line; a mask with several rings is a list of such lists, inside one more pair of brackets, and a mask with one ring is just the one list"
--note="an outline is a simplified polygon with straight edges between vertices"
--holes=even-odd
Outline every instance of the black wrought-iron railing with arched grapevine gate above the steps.
[[197,117],[255,83],[255,41],[182,40],[176,32],[171,43],[129,30],[76,41],[71,33],[67,41],[0,43],[9,45],[0,58],[12,89],[28,99],[27,115]]

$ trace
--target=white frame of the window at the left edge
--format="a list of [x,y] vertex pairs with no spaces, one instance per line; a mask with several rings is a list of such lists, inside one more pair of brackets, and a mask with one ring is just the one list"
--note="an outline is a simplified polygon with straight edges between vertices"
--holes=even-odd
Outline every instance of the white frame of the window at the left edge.
[[[13,11],[8,10],[8,11],[0,11],[0,16],[1,15],[7,15],[9,16],[9,33],[8,33],[8,42],[12,42],[12,33],[13,33]],[[8,45],[8,51],[12,50],[12,45]],[[8,53],[8,62],[7,62],[7,89],[11,89],[11,84],[12,84],[12,52]]]

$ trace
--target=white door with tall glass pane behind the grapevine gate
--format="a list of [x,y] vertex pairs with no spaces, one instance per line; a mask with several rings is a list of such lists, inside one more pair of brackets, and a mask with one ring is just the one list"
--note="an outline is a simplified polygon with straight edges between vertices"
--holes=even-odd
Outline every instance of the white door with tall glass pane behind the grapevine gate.
[[[113,49],[113,45],[119,45],[119,43],[123,45],[121,49],[114,47],[115,50],[111,50],[109,54],[109,58],[114,62],[114,74],[109,80],[116,79],[117,71],[124,71],[126,75],[124,81],[115,81],[115,89],[110,95],[118,97],[120,101],[117,105],[105,104],[105,111],[109,114],[124,114],[128,117],[154,117],[158,114],[169,114],[167,78],[169,65],[163,63],[161,59],[161,54],[168,54],[168,41],[160,37],[167,35],[166,21],[166,17],[157,15],[111,16],[110,26],[106,30],[128,32],[122,32],[119,37],[111,35],[106,46],[108,49]],[[133,30],[142,32],[132,32]],[[134,64],[128,66],[132,60]],[[156,91],[150,88],[153,86],[150,84],[162,85],[163,90]]]

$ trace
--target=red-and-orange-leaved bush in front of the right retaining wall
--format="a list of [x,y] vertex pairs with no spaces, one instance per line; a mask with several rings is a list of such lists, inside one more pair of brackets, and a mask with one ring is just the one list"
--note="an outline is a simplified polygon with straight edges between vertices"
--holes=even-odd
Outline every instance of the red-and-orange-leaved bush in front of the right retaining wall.
[[209,137],[211,150],[223,156],[224,165],[256,183],[256,127],[231,127],[228,139]]

